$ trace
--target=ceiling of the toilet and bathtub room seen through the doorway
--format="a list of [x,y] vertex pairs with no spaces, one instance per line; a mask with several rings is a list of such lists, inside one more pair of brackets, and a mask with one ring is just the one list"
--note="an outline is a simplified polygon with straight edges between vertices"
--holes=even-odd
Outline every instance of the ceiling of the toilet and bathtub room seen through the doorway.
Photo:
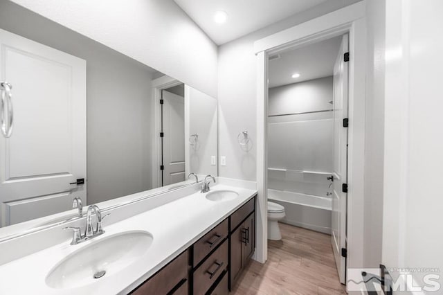
[[[280,53],[280,58],[274,60],[271,56],[269,88],[333,75],[340,44],[341,36],[338,36]],[[300,77],[292,78],[293,73],[300,73]]]

